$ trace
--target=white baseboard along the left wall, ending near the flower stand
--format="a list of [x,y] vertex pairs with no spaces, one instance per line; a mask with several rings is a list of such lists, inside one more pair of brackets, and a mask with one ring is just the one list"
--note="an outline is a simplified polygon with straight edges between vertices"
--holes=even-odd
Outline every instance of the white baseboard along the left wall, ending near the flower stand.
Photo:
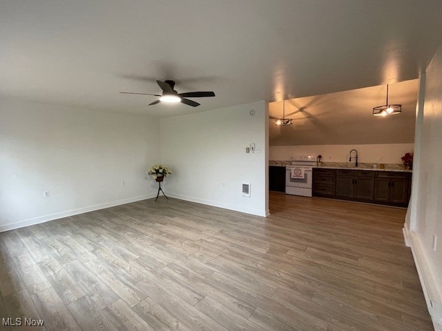
[[143,194],[137,197],[131,197],[127,199],[115,200],[106,203],[99,203],[97,205],[89,205],[83,208],[77,208],[72,210],[65,210],[63,212],[55,212],[54,214],[47,214],[44,216],[33,217],[32,219],[23,219],[23,221],[18,221],[14,223],[8,223],[0,225],[0,232],[5,232],[9,230],[15,230],[18,228],[24,228],[25,226],[35,225],[39,223],[44,223],[48,221],[53,221],[55,219],[62,219],[63,217],[69,217],[77,214],[82,214],[84,212],[93,212],[94,210],[100,210],[109,207],[115,207],[115,205],[124,205],[125,203],[131,203],[146,199],[155,198],[156,194]]

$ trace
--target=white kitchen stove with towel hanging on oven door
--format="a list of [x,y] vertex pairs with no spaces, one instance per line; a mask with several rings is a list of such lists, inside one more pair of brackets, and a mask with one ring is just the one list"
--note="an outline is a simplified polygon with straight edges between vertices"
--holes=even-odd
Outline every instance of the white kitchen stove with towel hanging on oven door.
[[285,193],[311,197],[311,177],[316,165],[314,155],[293,155],[285,170]]

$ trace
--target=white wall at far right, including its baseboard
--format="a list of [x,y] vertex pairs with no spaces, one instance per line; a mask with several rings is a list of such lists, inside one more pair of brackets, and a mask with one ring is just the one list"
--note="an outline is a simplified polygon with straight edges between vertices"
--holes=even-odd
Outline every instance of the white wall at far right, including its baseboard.
[[[411,246],[423,292],[434,324],[442,328],[442,48],[434,55],[426,74],[423,119],[416,121],[421,141],[416,144],[419,172],[414,174],[412,199],[405,224],[405,240]],[[419,108],[418,108],[419,110]],[[419,117],[419,113],[418,113]],[[415,185],[417,184],[417,185]],[[415,192],[415,190],[417,192]],[[434,249],[433,236],[437,237]],[[439,328],[436,328],[439,330]]]

